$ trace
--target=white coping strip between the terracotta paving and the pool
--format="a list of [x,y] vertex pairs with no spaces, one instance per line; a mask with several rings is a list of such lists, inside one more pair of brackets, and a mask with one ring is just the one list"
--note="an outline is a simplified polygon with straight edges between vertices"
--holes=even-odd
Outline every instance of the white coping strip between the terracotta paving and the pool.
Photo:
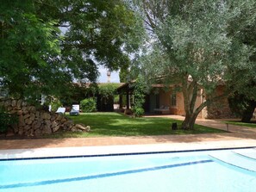
[[125,145],[125,146],[80,146],[80,147],[56,147],[56,148],[34,148],[34,149],[13,149],[0,150],[0,159],[13,158],[58,158],[73,156],[97,156],[115,155],[125,153],[144,152],[184,152],[199,150],[214,150],[222,148],[246,148],[255,147],[256,142],[198,142],[198,143],[177,143],[177,144],[153,144],[153,145]]

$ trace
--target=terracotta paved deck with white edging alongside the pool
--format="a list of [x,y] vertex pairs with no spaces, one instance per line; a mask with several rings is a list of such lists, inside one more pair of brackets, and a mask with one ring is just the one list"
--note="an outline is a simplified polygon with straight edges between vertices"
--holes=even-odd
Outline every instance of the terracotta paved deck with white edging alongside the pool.
[[[163,116],[177,120],[184,119],[184,117],[178,115]],[[227,130],[227,125],[219,120],[197,119],[197,124]],[[2,139],[0,140],[0,159],[256,147],[256,128],[228,125],[228,131],[229,133],[144,137]]]

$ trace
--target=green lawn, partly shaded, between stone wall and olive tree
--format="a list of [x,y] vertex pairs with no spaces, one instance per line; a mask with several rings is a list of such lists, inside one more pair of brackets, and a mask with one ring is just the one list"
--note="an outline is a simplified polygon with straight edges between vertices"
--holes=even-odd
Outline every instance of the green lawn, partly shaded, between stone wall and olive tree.
[[195,125],[194,130],[172,131],[172,122],[181,127],[182,121],[170,118],[131,118],[117,113],[88,113],[70,116],[74,123],[91,127],[90,133],[60,132],[47,135],[47,138],[78,138],[106,136],[147,136],[169,134],[223,133],[224,131]]

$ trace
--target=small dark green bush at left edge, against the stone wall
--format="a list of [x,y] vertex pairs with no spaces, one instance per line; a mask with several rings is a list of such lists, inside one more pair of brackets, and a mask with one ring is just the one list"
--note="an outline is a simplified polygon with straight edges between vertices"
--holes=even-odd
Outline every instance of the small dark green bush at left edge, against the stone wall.
[[0,133],[5,133],[8,127],[16,122],[16,115],[10,115],[4,108],[0,108]]

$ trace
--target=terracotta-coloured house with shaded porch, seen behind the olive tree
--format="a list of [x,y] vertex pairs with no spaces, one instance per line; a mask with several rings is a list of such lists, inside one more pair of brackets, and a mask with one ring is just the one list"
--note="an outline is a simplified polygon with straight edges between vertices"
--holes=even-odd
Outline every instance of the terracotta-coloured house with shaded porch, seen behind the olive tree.
[[[120,106],[130,108],[133,105],[133,84],[134,82],[122,84],[117,88],[120,95]],[[146,114],[169,114],[169,115],[185,115],[184,111],[184,96],[182,92],[175,91],[173,85],[166,88],[164,84],[152,84],[152,89],[145,96],[144,110]],[[216,89],[217,94],[222,94],[224,85],[219,85]],[[199,90],[203,91],[203,89]],[[201,92],[202,93],[202,92]],[[124,97],[125,96],[125,97]],[[123,100],[126,103],[123,103]],[[198,94],[196,107],[204,102],[202,94]],[[214,102],[211,105],[203,108],[198,118],[203,119],[218,119],[234,117],[229,106],[228,98]]]

